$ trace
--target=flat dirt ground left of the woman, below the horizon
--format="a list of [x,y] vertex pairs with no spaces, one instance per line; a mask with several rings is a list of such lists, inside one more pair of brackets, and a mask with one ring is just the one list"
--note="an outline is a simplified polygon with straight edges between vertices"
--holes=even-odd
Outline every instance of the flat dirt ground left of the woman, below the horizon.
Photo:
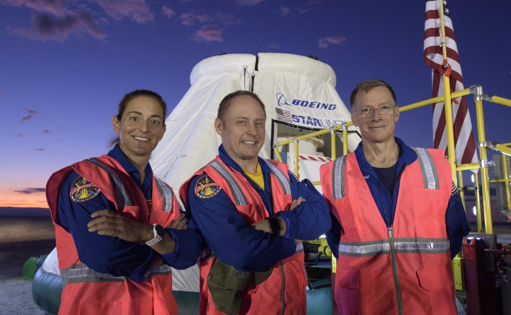
[[32,300],[32,281],[22,279],[22,268],[30,257],[54,247],[50,217],[0,216],[0,315],[44,314]]

